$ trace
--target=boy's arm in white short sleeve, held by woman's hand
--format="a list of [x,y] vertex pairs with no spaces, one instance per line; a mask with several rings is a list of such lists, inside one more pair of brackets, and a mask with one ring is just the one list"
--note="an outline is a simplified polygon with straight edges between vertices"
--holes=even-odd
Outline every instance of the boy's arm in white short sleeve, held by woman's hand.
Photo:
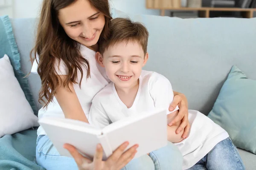
[[[149,79],[149,92],[154,100],[155,108],[168,108],[171,104],[174,94],[172,90],[172,85],[169,80],[161,74],[154,73]],[[179,108],[176,107],[174,111],[169,112],[167,115],[168,123],[171,122],[176,116]],[[175,112],[175,113],[173,113]],[[175,125],[167,126],[167,138],[170,142],[180,142],[182,140],[181,135],[183,133],[176,134],[175,131],[180,126],[181,121],[177,122]]]

